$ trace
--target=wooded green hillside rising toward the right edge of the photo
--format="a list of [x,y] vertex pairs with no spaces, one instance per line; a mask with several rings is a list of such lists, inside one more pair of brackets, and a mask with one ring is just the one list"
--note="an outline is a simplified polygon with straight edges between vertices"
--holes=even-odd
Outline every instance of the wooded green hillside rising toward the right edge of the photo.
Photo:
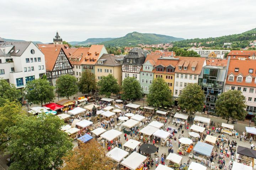
[[[245,48],[249,46],[250,41],[256,40],[256,28],[251,29],[250,31],[246,31],[241,34],[233,34],[233,35],[225,35],[222,37],[210,37],[210,38],[194,38],[194,39],[186,39],[178,42],[174,42],[174,46],[177,47],[191,47],[194,46],[190,43],[201,43],[201,46],[206,47],[222,47],[224,43],[233,43],[232,48]],[[206,42],[213,42],[207,44]]]

